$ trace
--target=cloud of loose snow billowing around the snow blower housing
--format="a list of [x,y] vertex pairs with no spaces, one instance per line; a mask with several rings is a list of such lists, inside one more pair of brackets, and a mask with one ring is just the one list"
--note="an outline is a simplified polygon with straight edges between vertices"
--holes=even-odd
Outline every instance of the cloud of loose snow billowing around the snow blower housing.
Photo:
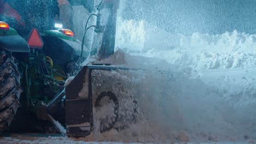
[[[121,101],[119,107],[123,109],[119,112],[124,117],[121,123],[128,123],[129,127],[103,134],[94,132],[88,139],[176,141],[181,130],[187,131],[193,141],[243,139],[248,134],[240,123],[240,113],[226,104],[219,93],[164,60],[131,56],[118,50],[108,59],[96,63],[113,63],[138,70],[98,71],[96,77],[101,80],[98,81],[101,85],[95,85],[97,91],[94,91],[117,94]],[[132,124],[130,98],[134,98],[138,106],[138,115]]]

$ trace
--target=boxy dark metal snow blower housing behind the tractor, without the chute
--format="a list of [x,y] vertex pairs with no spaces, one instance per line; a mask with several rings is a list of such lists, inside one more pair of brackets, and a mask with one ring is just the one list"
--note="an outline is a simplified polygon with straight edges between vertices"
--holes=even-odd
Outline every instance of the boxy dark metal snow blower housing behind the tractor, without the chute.
[[[119,101],[121,99],[120,94],[115,92],[115,89],[112,87],[115,85],[115,81],[121,81],[117,77],[113,81],[113,77],[111,77],[112,72],[128,70],[131,69],[104,65],[85,65],[79,71],[77,76],[66,87],[67,136],[87,136],[94,129],[97,129],[101,133],[112,128],[121,130],[135,121],[137,115],[136,101],[131,95],[127,98],[132,101],[130,108],[133,113],[131,119],[126,119],[126,121],[129,121],[129,124],[127,122],[124,124],[124,119],[119,116],[119,105],[122,104]],[[100,83],[105,86],[101,86]],[[125,88],[122,89],[127,91]],[[109,109],[111,112],[102,113],[105,115],[103,118],[98,118],[97,116],[95,118],[93,109],[102,107],[100,103],[106,97],[108,97],[108,103],[112,103],[112,107]],[[122,95],[121,97],[125,96]],[[103,109],[107,108],[103,107]],[[94,119],[100,121],[97,126],[94,125]]]

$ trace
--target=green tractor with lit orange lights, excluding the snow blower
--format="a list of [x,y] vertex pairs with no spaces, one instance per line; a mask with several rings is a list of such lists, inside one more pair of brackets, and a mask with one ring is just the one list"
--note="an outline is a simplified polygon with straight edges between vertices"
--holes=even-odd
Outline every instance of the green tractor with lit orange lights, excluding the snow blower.
[[[95,9],[94,1],[69,2]],[[50,0],[0,0],[0,134],[54,133],[53,121],[66,127],[65,81],[89,51],[55,21],[59,8]]]

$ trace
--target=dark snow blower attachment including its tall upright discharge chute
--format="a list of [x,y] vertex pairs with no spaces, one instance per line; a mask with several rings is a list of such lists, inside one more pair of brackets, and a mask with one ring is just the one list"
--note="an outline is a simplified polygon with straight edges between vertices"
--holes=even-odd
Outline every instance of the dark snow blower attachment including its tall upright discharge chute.
[[[72,1],[69,2],[72,3]],[[86,3],[90,4],[88,1]],[[88,7],[88,5],[84,5],[84,7]],[[95,27],[90,55],[95,55],[98,60],[107,58],[114,53],[118,7],[119,1],[101,1],[95,6],[97,14],[91,15],[97,16],[96,25],[87,27],[86,23],[85,33],[90,27]],[[120,118],[118,95],[111,88],[99,89],[100,85],[111,87],[113,83],[111,84],[109,81],[107,84],[107,81],[98,81],[98,78],[101,73],[120,69],[122,68],[85,65],[69,83],[66,87],[67,136],[87,136],[95,129],[102,133],[116,126],[115,124]],[[99,75],[96,76],[97,74]],[[106,77],[102,77],[102,80]],[[106,106],[110,108],[107,109]],[[104,110],[94,112],[102,107]],[[104,112],[101,113],[102,111]],[[103,117],[97,117],[97,115]]]

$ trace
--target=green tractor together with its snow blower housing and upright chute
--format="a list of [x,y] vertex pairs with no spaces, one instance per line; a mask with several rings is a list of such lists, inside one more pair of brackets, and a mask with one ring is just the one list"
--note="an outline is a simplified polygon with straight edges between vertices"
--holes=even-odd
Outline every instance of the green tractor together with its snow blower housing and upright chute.
[[[19,133],[59,131],[78,137],[95,129],[101,133],[123,130],[136,121],[137,101],[129,93],[133,85],[123,86],[121,77],[110,76],[113,70],[127,73],[129,69],[106,63],[80,65],[85,56],[100,61],[114,53],[119,1],[102,0],[95,5],[94,0],[68,0],[91,13],[87,22],[96,17],[95,25],[86,22],[82,43],[72,31],[54,22],[57,1],[7,1],[0,0],[0,134],[9,129]],[[12,15],[1,15],[3,4]],[[9,4],[17,9],[10,10]],[[84,38],[89,28],[94,28],[94,37],[86,50]],[[110,105],[109,113],[95,115],[106,105]],[[100,112],[95,113],[96,109]],[[95,118],[99,125],[94,125]]]

